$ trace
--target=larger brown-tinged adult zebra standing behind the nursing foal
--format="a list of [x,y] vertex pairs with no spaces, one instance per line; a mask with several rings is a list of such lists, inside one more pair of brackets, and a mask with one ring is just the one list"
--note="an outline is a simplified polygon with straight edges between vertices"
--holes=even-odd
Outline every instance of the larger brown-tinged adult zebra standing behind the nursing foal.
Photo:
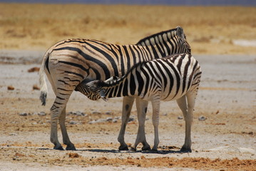
[[[61,126],[66,150],[76,150],[66,131],[66,103],[81,81],[106,80],[121,77],[139,61],[168,56],[171,53],[190,53],[183,28],[156,33],[143,38],[138,45],[115,45],[91,39],[60,41],[46,51],[39,71],[42,105],[46,104],[47,86],[44,72],[51,83],[56,99],[51,107],[51,142],[54,149],[63,150],[57,136],[57,123]],[[118,135],[120,150],[127,150],[124,133],[134,98],[123,98],[122,126]],[[139,102],[138,102],[139,103]]]

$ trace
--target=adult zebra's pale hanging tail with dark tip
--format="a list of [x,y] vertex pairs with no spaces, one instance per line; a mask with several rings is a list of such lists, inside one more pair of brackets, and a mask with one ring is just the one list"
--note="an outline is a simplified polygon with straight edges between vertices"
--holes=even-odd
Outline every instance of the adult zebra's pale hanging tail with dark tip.
[[41,90],[41,95],[40,95],[40,100],[42,105],[46,105],[46,97],[48,93],[47,85],[46,85],[46,78],[44,76],[44,68],[45,68],[45,63],[47,58],[49,57],[50,53],[46,53],[45,56],[43,56],[43,61],[41,64],[41,68],[39,70],[39,84],[40,84],[40,90]]

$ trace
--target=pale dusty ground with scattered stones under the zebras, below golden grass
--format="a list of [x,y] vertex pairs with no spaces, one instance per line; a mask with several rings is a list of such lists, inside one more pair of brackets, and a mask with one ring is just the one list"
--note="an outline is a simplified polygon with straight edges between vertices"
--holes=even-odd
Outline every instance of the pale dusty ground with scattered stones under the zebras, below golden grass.
[[[141,151],[142,145],[137,152],[118,151],[121,98],[96,103],[77,92],[69,100],[66,124],[78,150],[52,150],[53,91],[48,84],[47,103],[41,106],[40,92],[34,90],[38,73],[28,72],[40,66],[43,52],[0,52],[0,170],[256,170],[256,56],[195,55],[203,78],[195,106],[193,152],[179,151],[185,123],[172,101],[161,103],[160,145],[153,153]],[[145,130],[153,145],[151,109]],[[199,120],[201,116],[206,120]],[[125,138],[133,144],[138,128],[134,106],[131,118]]]

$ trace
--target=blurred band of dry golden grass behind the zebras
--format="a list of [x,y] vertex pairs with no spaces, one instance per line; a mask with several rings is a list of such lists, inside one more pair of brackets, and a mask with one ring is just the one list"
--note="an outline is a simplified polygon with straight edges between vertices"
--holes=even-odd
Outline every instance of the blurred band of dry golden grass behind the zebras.
[[66,38],[136,43],[182,26],[193,53],[256,54],[256,8],[242,6],[136,6],[0,4],[0,49],[46,51]]

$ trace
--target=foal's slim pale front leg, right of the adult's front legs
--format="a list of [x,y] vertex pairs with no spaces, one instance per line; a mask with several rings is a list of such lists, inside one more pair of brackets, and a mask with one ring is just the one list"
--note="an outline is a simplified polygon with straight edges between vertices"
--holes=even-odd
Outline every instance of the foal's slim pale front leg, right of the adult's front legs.
[[155,132],[153,151],[158,151],[159,137],[158,137],[158,125],[159,125],[159,110],[160,110],[160,98],[152,101],[153,115],[152,121]]

